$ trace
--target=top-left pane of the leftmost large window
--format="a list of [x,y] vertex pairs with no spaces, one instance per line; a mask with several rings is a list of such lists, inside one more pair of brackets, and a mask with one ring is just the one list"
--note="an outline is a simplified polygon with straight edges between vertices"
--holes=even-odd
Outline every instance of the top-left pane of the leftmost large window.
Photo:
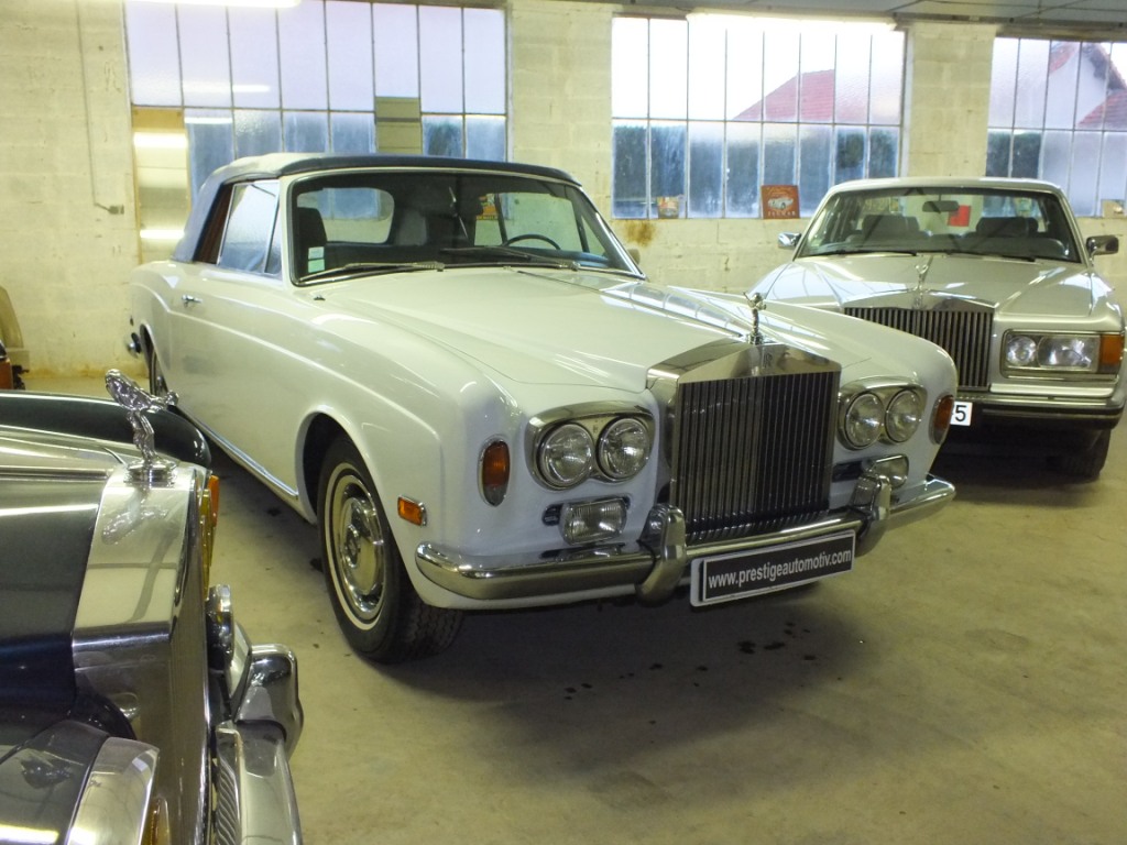
[[180,51],[176,43],[176,7],[125,3],[125,35],[133,105],[180,106]]

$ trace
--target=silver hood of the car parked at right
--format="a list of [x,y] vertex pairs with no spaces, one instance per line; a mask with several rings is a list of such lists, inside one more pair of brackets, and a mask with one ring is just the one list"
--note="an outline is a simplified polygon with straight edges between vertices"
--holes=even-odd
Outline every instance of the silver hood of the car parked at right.
[[841,310],[849,305],[919,308],[961,300],[1000,314],[1094,315],[1110,288],[1079,264],[921,254],[805,258],[783,265],[756,288],[771,299]]

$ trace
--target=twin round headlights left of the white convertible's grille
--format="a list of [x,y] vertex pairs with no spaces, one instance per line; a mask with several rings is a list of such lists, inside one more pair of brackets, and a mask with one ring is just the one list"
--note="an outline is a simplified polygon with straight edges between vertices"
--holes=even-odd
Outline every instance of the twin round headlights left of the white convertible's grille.
[[541,483],[566,490],[588,478],[625,481],[649,460],[649,415],[588,411],[533,421],[531,463]]

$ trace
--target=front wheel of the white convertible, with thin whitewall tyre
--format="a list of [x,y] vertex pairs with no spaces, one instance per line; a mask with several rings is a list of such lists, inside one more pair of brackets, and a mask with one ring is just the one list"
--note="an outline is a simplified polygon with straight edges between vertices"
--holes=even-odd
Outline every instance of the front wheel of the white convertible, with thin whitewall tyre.
[[341,437],[328,451],[318,491],[325,581],[348,643],[375,662],[436,655],[462,614],[419,598],[360,453]]

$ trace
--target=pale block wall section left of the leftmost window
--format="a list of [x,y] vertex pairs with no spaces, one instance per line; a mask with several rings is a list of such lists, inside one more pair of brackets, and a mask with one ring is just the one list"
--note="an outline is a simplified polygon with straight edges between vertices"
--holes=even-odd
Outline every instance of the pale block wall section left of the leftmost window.
[[127,363],[125,277],[137,235],[116,2],[6,2],[0,198],[0,284],[33,368]]

